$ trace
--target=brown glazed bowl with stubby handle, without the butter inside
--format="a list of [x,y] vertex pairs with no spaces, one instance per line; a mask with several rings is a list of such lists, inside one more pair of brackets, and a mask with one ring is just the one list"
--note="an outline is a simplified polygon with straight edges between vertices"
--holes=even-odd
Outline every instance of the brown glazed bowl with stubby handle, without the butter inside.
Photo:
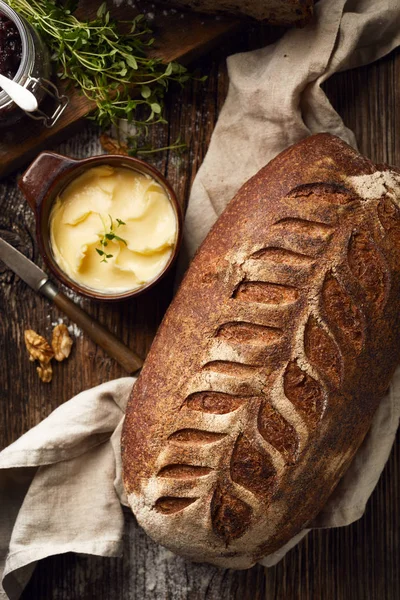
[[[101,293],[73,281],[56,263],[50,243],[49,218],[54,200],[72,180],[79,177],[86,169],[101,165],[124,167],[150,175],[165,190],[175,211],[177,222],[177,239],[174,251],[164,269],[152,281],[135,290],[127,290],[120,294]],[[95,300],[115,301],[133,298],[142,294],[163,277],[176,259],[182,241],[182,210],[172,187],[165,177],[154,167],[138,158],[128,156],[102,154],[83,160],[74,160],[53,152],[42,152],[20,178],[18,185],[35,213],[36,236],[39,250],[55,277],[66,286]]]

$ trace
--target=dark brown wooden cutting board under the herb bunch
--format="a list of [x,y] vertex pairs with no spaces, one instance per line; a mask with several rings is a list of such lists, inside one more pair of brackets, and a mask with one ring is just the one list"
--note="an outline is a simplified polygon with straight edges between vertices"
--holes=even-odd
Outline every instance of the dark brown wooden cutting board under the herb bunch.
[[[91,18],[100,4],[101,0],[82,0],[79,16]],[[166,63],[177,60],[188,64],[240,26],[237,19],[165,10],[152,2],[140,0],[135,2],[135,8],[125,4],[116,7],[110,0],[108,5],[116,19],[126,20],[140,12],[147,14],[156,39],[149,54]],[[27,164],[38,152],[51,148],[72,134],[80,120],[92,110],[92,103],[78,91],[65,91],[66,84],[61,82],[58,87],[69,96],[70,101],[54,127],[46,129],[40,123],[24,117],[9,130],[0,129],[0,178]]]

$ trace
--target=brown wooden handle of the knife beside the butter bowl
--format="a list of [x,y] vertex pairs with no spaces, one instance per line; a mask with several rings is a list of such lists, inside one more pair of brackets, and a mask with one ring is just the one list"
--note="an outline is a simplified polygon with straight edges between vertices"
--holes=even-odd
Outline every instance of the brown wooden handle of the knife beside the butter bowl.
[[129,374],[133,374],[143,366],[143,360],[118,340],[110,331],[92,319],[77,304],[72,302],[56,286],[47,281],[40,292],[52,300],[54,304],[78,325],[100,348],[114,358]]

